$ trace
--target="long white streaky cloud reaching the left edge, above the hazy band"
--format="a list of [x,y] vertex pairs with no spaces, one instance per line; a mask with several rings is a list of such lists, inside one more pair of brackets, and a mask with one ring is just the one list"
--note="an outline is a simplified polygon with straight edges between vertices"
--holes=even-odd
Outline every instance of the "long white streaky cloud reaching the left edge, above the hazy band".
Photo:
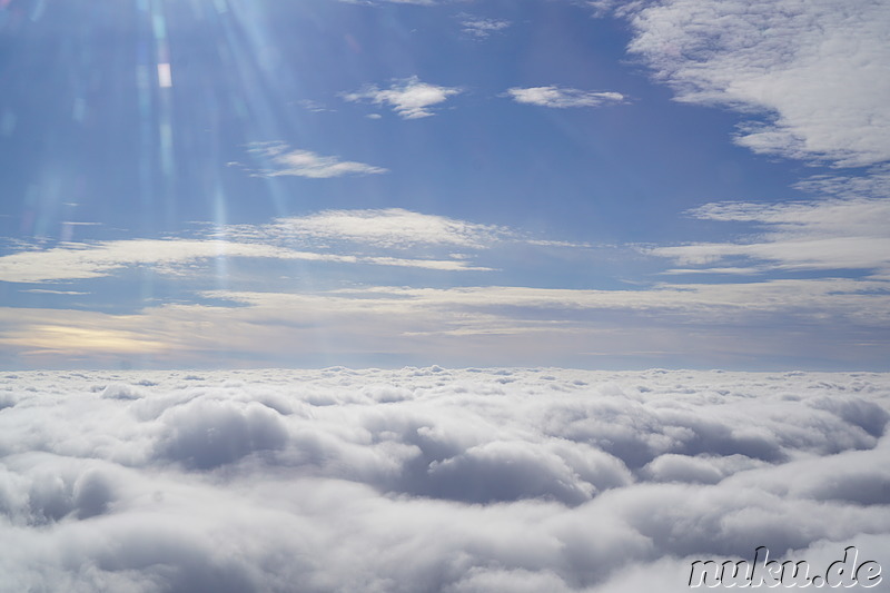
[[[534,244],[535,239],[526,239],[504,227],[398,208],[324,210],[305,217],[279,218],[268,225],[214,227],[197,238],[62,243],[44,249],[22,245],[19,246],[20,251],[0,256],[0,280],[46,283],[90,279],[135,266],[151,266],[161,273],[177,274],[188,264],[227,258],[482,271],[491,268],[473,266],[462,254],[421,258],[416,257],[416,253],[405,257],[404,251],[419,246],[481,250],[498,241]],[[301,249],[295,249],[295,246]],[[337,249],[332,250],[332,246]],[[369,254],[368,249],[378,253]],[[63,293],[78,294],[71,290]]]

